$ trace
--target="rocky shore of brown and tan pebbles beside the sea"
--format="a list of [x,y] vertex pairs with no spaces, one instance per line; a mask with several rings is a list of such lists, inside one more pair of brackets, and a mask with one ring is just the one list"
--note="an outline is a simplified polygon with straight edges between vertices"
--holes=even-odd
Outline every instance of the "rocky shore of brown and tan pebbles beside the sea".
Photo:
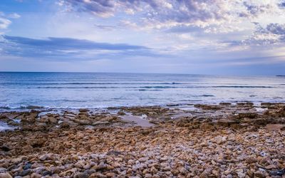
[[285,103],[1,112],[0,177],[285,177]]

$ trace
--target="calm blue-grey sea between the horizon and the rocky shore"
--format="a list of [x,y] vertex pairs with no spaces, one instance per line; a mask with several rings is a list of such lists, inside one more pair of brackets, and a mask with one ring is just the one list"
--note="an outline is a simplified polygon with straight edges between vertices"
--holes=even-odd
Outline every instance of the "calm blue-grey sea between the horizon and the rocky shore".
[[285,102],[285,77],[0,73],[0,111],[240,101]]

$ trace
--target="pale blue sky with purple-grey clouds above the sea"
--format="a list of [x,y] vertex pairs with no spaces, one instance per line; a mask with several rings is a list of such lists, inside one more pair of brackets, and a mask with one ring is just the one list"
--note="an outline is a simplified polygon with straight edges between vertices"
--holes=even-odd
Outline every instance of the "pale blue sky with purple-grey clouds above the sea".
[[0,71],[285,75],[285,0],[1,0]]

